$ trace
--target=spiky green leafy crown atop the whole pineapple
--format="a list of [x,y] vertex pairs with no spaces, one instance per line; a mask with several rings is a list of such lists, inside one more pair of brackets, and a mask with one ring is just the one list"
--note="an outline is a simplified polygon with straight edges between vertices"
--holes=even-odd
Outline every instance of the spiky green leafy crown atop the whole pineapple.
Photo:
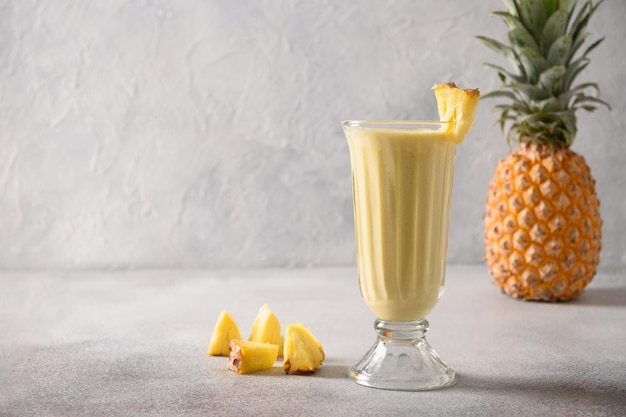
[[[486,63],[502,86],[482,98],[497,98],[500,128],[509,125],[507,139],[522,143],[569,147],[576,135],[576,111],[610,105],[599,98],[596,83],[575,85],[589,65],[588,55],[604,38],[582,49],[586,28],[604,0],[503,0],[507,11],[492,14],[508,27],[508,43],[477,36],[514,68]],[[581,53],[582,51],[582,53]]]

